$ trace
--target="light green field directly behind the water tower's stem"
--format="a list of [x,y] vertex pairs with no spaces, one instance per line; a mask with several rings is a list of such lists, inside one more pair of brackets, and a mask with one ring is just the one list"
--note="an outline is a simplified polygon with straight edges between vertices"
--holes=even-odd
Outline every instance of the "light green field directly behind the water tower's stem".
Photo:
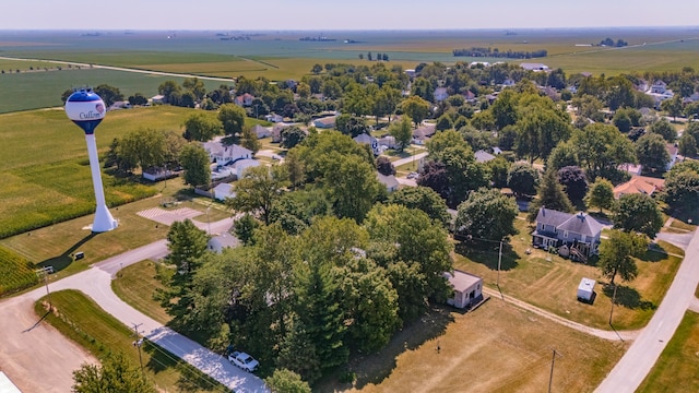
[[[97,131],[97,148],[129,130],[180,130],[193,109],[170,106],[110,112]],[[92,178],[83,132],[62,110],[0,115],[0,238],[90,214]],[[153,195],[153,187],[103,175],[111,206]]]

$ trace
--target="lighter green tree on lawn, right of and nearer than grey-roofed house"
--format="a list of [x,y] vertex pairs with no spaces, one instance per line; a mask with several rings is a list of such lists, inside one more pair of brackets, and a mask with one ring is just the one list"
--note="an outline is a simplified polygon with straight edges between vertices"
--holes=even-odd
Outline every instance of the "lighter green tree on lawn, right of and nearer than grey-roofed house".
[[623,281],[632,281],[638,275],[633,258],[640,257],[647,249],[648,240],[643,235],[613,229],[600,245],[597,266],[602,275],[609,278],[611,285],[614,285],[617,274]]

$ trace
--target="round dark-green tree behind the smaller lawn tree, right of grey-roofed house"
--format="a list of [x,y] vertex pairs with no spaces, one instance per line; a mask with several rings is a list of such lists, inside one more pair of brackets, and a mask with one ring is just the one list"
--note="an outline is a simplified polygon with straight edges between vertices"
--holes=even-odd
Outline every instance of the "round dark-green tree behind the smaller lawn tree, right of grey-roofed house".
[[614,206],[614,228],[627,233],[639,233],[651,239],[663,227],[663,214],[657,203],[644,193],[631,193],[619,196]]

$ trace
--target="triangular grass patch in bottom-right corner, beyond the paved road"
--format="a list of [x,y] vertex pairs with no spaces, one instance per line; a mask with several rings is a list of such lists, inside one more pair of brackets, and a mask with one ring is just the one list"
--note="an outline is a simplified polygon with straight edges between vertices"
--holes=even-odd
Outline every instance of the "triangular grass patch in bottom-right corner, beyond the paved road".
[[[637,392],[699,392],[699,314],[687,311]],[[674,389],[670,388],[674,386]]]

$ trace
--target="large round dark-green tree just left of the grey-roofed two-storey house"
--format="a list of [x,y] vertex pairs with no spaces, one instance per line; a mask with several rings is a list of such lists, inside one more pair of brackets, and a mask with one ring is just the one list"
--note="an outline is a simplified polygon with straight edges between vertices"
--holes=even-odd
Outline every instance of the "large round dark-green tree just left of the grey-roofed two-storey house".
[[459,205],[454,228],[462,236],[500,241],[517,234],[518,213],[513,198],[496,189],[482,188]]

